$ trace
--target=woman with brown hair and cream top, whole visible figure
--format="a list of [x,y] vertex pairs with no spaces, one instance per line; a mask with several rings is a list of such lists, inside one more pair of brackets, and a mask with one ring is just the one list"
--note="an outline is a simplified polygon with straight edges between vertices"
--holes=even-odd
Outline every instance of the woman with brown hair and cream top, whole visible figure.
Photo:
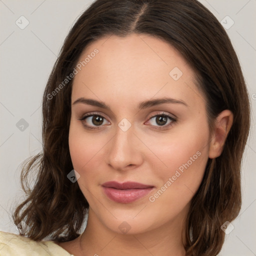
[[43,151],[22,172],[37,181],[13,214],[27,238],[1,232],[0,253],[217,255],[240,210],[248,102],[199,2],[96,0],[44,91]]

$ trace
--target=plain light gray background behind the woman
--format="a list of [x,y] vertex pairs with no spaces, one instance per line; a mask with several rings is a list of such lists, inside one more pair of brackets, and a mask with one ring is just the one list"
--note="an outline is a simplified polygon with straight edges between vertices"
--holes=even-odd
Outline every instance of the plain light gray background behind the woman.
[[[41,150],[42,93],[67,32],[88,0],[0,0],[0,230],[18,233],[10,211],[23,199],[20,163]],[[252,105],[242,164],[242,208],[219,255],[256,255],[256,0],[200,0],[225,26],[239,57]],[[17,22],[24,25],[20,29]],[[207,22],[207,20],[205,20]],[[223,23],[224,22],[224,23]],[[28,127],[16,126],[23,118]],[[23,121],[19,121],[22,122]],[[23,130],[22,130],[23,128]],[[21,130],[20,130],[21,129]]]

